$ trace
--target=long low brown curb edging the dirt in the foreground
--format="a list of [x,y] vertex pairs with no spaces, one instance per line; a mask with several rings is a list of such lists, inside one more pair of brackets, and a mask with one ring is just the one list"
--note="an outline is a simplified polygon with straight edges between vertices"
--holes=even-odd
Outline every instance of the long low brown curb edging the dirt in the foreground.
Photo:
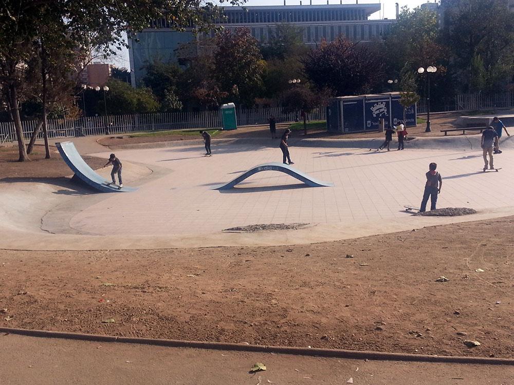
[[0,328],[0,333],[17,334],[29,337],[60,338],[90,342],[122,342],[138,343],[144,345],[155,345],[170,348],[193,348],[208,350],[232,350],[238,352],[256,353],[277,353],[292,354],[314,357],[330,357],[345,359],[371,359],[382,361],[416,361],[416,362],[441,362],[441,363],[468,363],[486,365],[514,365],[511,358],[490,358],[490,357],[461,357],[461,356],[436,356],[423,354],[403,354],[373,351],[357,351],[345,349],[319,349],[319,348],[297,348],[297,347],[278,347],[266,345],[250,345],[225,342],[206,342],[206,341],[182,341],[159,338],[137,338],[137,337],[117,337],[103,336],[97,334],[51,332],[45,330],[27,330],[15,328]]

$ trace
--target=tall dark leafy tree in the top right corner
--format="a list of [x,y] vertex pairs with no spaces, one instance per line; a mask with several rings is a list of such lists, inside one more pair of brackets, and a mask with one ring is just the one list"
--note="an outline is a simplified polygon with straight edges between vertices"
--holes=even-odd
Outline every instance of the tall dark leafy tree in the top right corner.
[[514,72],[514,14],[505,0],[448,0],[443,31],[462,91],[506,84]]

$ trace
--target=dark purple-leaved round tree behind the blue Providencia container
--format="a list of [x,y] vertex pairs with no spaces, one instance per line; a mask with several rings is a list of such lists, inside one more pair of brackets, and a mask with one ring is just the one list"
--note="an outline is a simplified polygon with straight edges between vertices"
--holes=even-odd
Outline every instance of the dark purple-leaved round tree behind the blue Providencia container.
[[303,60],[304,72],[316,87],[339,96],[370,93],[383,81],[383,60],[370,49],[338,38],[322,43]]

